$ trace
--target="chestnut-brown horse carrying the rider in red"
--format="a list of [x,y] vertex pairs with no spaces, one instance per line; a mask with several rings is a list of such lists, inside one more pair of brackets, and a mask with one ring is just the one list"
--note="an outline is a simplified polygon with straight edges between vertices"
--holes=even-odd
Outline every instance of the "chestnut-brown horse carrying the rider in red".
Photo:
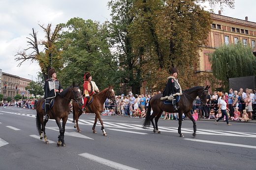
[[[86,105],[86,113],[95,113],[95,121],[93,125],[93,133],[97,133],[95,130],[97,120],[99,120],[101,124],[101,130],[103,132],[103,136],[107,136],[107,133],[104,129],[103,121],[101,120],[100,117],[100,112],[104,109],[103,104],[106,100],[106,98],[111,99],[114,103],[116,101],[116,96],[115,96],[115,91],[114,91],[114,86],[109,86],[108,88],[102,90],[101,92],[92,95],[88,99],[88,103]],[[78,106],[77,103],[73,102],[73,122],[76,122],[76,125],[74,125],[74,128],[77,128],[78,132],[81,132],[79,126],[78,126],[78,119],[82,115],[82,108],[81,106]]]

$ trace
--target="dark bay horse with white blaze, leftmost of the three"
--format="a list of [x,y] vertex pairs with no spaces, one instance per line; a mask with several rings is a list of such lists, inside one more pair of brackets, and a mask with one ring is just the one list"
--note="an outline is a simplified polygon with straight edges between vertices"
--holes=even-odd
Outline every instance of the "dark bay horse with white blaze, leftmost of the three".
[[[48,110],[48,115],[50,119],[55,119],[59,129],[60,129],[60,135],[57,145],[58,146],[66,146],[64,143],[64,132],[65,132],[65,124],[68,118],[68,114],[70,112],[69,108],[69,102],[71,100],[74,100],[77,102],[79,106],[83,106],[84,100],[83,96],[81,94],[81,90],[79,89],[79,85],[73,84],[66,88],[61,93],[57,94],[57,96],[54,99],[54,105],[51,109]],[[35,103],[36,108],[36,127],[38,130],[38,133],[40,135],[40,139],[44,139],[45,144],[49,144],[46,133],[45,133],[45,125],[48,121],[48,119],[45,119],[45,113],[44,109],[42,109],[42,106],[44,104],[44,98],[40,98]],[[61,119],[62,119],[62,125],[61,125]],[[44,137],[43,137],[44,133]]]

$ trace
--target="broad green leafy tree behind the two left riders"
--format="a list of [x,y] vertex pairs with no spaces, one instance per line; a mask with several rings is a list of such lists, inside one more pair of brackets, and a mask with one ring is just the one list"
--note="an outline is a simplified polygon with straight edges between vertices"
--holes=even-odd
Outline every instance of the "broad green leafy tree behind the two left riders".
[[69,86],[72,81],[83,84],[84,75],[90,72],[101,90],[109,84],[118,87],[118,67],[110,52],[107,24],[72,18],[65,27],[68,30],[61,35],[60,43],[65,61],[60,74],[62,85]]

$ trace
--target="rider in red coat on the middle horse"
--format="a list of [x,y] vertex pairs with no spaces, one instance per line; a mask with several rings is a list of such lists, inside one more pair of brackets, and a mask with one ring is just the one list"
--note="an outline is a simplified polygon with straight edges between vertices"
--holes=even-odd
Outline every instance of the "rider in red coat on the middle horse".
[[92,81],[92,75],[90,72],[86,73],[84,76],[85,82],[84,82],[84,105],[82,106],[82,111],[85,112],[86,111],[86,103],[88,98],[95,94],[95,91],[98,93],[98,87],[96,86],[96,83],[94,81]]

